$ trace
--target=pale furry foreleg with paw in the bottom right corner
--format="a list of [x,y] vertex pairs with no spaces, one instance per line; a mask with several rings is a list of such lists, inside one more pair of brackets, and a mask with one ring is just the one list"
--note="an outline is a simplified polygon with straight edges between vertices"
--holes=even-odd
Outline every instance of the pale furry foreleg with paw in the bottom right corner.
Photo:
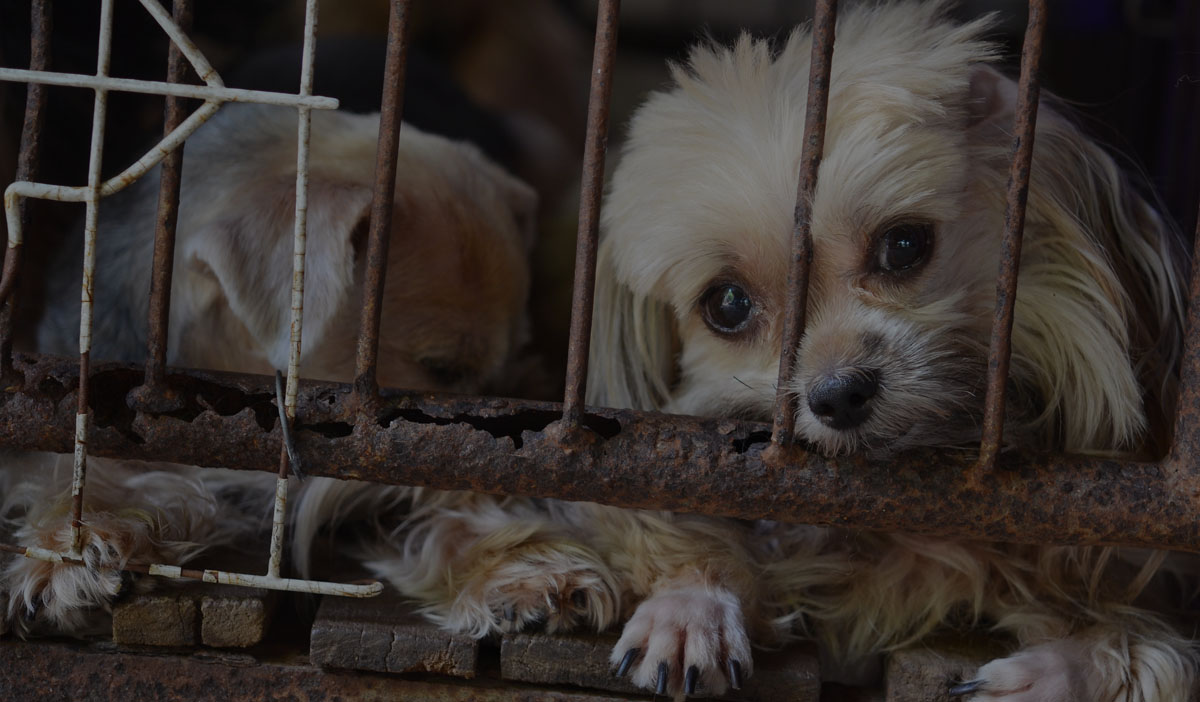
[[972,702],[1172,702],[1190,700],[1193,646],[1142,613],[1022,648],[952,688]]

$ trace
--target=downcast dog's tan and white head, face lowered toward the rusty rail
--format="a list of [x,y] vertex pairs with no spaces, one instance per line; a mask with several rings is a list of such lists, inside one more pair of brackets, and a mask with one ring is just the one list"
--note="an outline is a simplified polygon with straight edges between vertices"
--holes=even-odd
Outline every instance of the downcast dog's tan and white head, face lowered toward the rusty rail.
[[[312,119],[302,372],[349,380],[379,122]],[[188,142],[172,348],[185,365],[270,372],[289,349],[296,118],[230,106],[216,120]],[[379,382],[479,391],[528,334],[536,197],[470,145],[400,134]]]

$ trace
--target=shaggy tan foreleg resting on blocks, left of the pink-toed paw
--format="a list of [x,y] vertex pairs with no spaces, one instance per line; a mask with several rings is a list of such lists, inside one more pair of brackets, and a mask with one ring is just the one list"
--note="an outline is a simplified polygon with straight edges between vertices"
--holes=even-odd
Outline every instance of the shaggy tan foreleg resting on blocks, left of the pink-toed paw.
[[604,629],[617,617],[611,569],[542,503],[313,479],[294,517],[301,571],[322,526],[374,522],[366,565],[454,631]]

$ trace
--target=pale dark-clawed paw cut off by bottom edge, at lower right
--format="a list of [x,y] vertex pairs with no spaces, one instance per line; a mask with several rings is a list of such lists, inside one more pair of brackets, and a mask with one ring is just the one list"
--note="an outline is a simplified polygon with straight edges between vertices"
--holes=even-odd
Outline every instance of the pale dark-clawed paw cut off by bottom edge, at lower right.
[[1092,702],[1087,672],[1082,647],[1064,638],[996,659],[950,695],[970,702]]

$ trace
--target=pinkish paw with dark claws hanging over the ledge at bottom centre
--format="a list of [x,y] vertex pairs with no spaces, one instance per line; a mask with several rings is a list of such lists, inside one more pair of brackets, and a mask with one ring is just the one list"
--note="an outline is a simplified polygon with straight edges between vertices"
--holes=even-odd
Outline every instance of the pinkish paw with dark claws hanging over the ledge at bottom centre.
[[612,652],[618,676],[659,695],[720,695],[750,676],[742,605],[722,588],[685,587],[642,602]]

